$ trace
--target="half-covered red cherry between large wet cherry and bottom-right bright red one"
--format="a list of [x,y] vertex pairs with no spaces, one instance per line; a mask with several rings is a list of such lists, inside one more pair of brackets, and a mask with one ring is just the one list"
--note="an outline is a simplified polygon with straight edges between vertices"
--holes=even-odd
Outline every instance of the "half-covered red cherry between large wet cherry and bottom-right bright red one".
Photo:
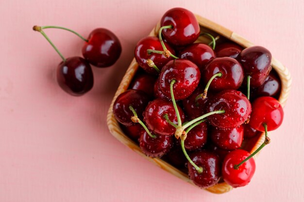
[[243,142],[244,127],[243,125],[229,129],[212,127],[209,134],[213,143],[221,149],[235,150],[240,148]]

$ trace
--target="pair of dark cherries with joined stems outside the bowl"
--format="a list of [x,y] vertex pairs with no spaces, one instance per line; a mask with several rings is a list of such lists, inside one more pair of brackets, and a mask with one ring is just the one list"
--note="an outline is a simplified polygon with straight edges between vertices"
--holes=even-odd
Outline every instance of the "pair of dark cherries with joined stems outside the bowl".
[[[49,28],[70,31],[83,39],[84,58],[78,56],[65,58],[43,31]],[[62,62],[57,67],[57,81],[59,86],[71,95],[82,95],[92,89],[94,78],[90,64],[97,67],[109,67],[118,60],[121,53],[117,36],[104,28],[93,30],[87,39],[75,31],[58,26],[34,26],[33,30],[39,31],[62,58]]]

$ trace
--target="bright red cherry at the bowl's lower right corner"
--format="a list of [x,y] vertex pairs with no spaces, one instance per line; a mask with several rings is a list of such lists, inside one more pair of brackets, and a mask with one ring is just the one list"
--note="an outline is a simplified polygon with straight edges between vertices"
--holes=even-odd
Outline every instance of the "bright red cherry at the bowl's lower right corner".
[[235,165],[250,155],[245,150],[237,149],[226,155],[222,165],[223,180],[230,186],[236,188],[248,185],[255,171],[255,162],[250,158],[245,163],[235,169]]

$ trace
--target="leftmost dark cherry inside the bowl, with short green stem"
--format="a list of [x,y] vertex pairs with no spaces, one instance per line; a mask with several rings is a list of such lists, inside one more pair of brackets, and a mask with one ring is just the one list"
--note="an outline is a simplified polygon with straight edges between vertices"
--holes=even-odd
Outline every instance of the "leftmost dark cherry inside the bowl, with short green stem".
[[149,95],[143,91],[127,90],[116,98],[113,105],[113,113],[116,120],[123,125],[130,126],[134,124],[131,117],[133,112],[129,109],[130,105],[135,109],[139,119],[149,102]]

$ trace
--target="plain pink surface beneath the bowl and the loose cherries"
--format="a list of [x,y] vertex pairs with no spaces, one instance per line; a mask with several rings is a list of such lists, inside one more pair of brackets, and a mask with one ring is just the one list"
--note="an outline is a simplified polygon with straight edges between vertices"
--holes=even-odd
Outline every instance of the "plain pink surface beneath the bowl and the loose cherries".
[[[211,194],[155,167],[111,136],[106,113],[136,42],[172,7],[185,7],[270,49],[293,77],[282,126],[257,159],[249,186]],[[94,68],[81,97],[55,81],[60,57],[33,25],[84,36],[118,35],[118,62]],[[304,200],[304,1],[0,0],[0,202],[255,202]],[[81,55],[71,33],[46,31],[66,57]]]

